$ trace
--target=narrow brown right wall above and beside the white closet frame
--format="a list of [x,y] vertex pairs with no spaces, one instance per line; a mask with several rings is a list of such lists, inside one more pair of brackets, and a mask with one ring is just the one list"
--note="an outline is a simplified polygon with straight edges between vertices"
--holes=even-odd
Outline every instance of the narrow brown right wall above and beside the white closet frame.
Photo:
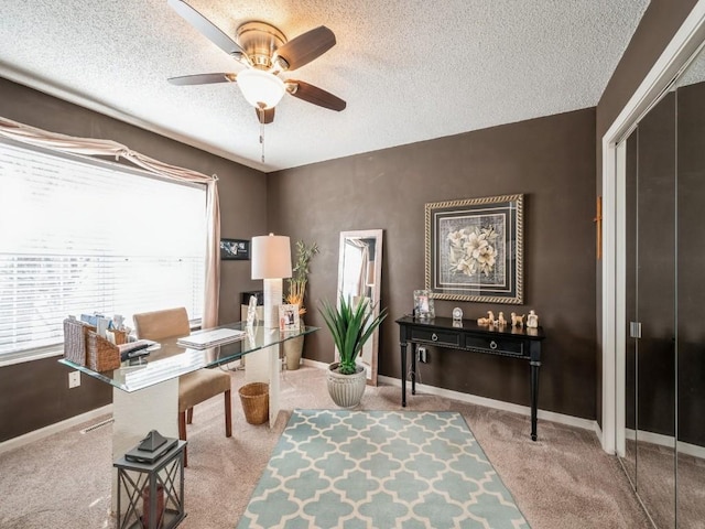
[[[649,71],[661,56],[673,35],[677,32],[683,21],[687,18],[697,0],[651,0],[644,12],[637,31],[629,42],[617,68],[609,79],[596,111],[596,194],[603,194],[603,137],[627,105]],[[598,422],[601,424],[603,406],[603,352],[601,342],[601,263],[596,263],[596,295],[597,295],[597,385],[596,406]]]

